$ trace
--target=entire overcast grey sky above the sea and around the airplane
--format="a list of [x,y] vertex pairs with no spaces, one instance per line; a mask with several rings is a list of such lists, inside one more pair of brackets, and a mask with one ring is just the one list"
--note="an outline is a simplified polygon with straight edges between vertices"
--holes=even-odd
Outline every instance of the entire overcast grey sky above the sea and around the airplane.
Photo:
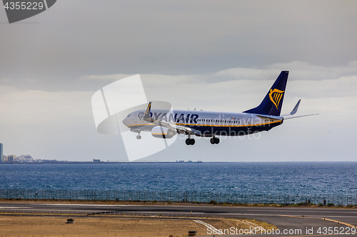
[[[126,161],[91,96],[140,74],[148,100],[241,112],[289,70],[283,113],[252,137],[177,139],[147,161],[357,161],[356,1],[61,0],[9,24],[0,9],[0,142],[35,159]],[[133,136],[136,136],[133,133]]]

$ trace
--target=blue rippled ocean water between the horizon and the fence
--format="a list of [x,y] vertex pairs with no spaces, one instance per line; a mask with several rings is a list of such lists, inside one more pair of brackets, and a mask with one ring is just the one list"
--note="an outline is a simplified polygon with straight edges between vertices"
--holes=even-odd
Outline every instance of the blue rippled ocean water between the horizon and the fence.
[[0,189],[357,194],[357,162],[2,164]]

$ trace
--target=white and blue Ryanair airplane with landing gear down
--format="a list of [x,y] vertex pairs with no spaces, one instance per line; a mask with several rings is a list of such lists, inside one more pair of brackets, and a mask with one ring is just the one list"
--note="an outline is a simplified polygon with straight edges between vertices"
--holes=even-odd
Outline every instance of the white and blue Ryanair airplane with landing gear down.
[[[218,136],[243,136],[271,130],[281,125],[284,120],[311,115],[295,115],[301,99],[287,115],[280,115],[285,94],[288,71],[281,71],[275,83],[260,105],[243,112],[216,112],[203,110],[151,110],[149,102],[146,110],[129,113],[122,121],[131,132],[136,132],[136,139],[141,139],[141,132],[151,132],[153,137],[170,139],[175,135],[187,135],[186,144],[195,144],[193,135],[211,137],[211,144],[218,144]],[[318,115],[318,114],[312,114]]]

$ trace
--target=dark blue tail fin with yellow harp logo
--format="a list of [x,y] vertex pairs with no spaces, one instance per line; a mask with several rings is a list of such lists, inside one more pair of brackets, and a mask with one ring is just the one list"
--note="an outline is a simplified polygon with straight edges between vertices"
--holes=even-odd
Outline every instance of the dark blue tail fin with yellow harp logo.
[[274,115],[280,116],[281,107],[285,94],[286,82],[288,81],[288,71],[281,71],[275,83],[266,94],[266,97],[258,107],[244,112],[259,114],[259,115]]

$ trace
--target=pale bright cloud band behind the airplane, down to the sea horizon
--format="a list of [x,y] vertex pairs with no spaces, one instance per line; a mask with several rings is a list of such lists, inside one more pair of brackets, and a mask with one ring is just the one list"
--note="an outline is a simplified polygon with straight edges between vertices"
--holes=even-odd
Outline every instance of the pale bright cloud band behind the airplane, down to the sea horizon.
[[[308,149],[309,153],[305,153],[306,156],[310,156],[309,158],[301,159],[298,154],[291,155],[289,159],[296,161],[319,160],[320,158],[316,157],[326,146],[331,156],[328,156],[328,152],[323,155],[327,156],[328,160],[335,160],[332,154],[336,155],[338,146],[344,147],[342,157],[354,154],[354,146],[347,144],[351,144],[357,130],[357,126],[351,122],[357,115],[356,64],[353,61],[343,67],[331,68],[302,62],[284,64],[291,68],[299,68],[306,75],[319,75],[319,80],[308,77],[295,77],[295,80],[291,80],[296,73],[295,70],[291,70],[282,113],[290,112],[297,100],[302,98],[297,115],[316,112],[320,115],[288,120],[268,134],[261,133],[259,140],[241,139],[242,137],[224,139],[214,149],[208,140],[202,138],[195,144],[192,155],[201,157],[203,161],[217,161],[216,157],[221,157],[222,154],[225,157],[224,154],[231,151],[238,152],[240,157],[253,155],[255,158],[236,159],[226,156],[221,160],[262,161],[258,158],[261,157],[259,151],[270,151],[276,141],[284,147],[284,152],[289,152],[292,144],[302,147],[301,149]],[[196,107],[197,110],[241,112],[261,102],[280,73],[278,68],[280,66],[274,64],[261,68],[231,68],[191,75],[141,74],[141,79],[148,100],[170,102],[174,109],[193,110]],[[328,74],[331,72],[335,78]],[[99,81],[103,84],[96,88],[99,90],[104,85],[127,76],[129,75],[88,75],[77,81],[86,85],[97,85]],[[44,159],[46,156],[49,158],[48,155],[51,154],[51,159],[91,160],[106,156],[110,157],[110,160],[126,161],[120,136],[101,135],[96,132],[91,111],[93,94],[94,90],[20,90],[9,85],[0,85],[0,139],[6,144],[5,153],[34,154],[37,159]],[[286,136],[290,138],[282,139]],[[336,137],[338,141],[334,140]],[[178,139],[176,143],[168,152],[175,153],[178,149],[175,154],[180,154],[179,151],[186,146],[182,139]],[[247,149],[238,148],[237,143]],[[314,147],[311,144],[314,144]],[[254,148],[256,146],[259,149]],[[253,154],[248,152],[249,149],[255,149]],[[148,159],[165,160],[165,154],[162,152],[156,154],[157,157]],[[264,154],[263,157],[265,161],[284,160],[282,156]]]

